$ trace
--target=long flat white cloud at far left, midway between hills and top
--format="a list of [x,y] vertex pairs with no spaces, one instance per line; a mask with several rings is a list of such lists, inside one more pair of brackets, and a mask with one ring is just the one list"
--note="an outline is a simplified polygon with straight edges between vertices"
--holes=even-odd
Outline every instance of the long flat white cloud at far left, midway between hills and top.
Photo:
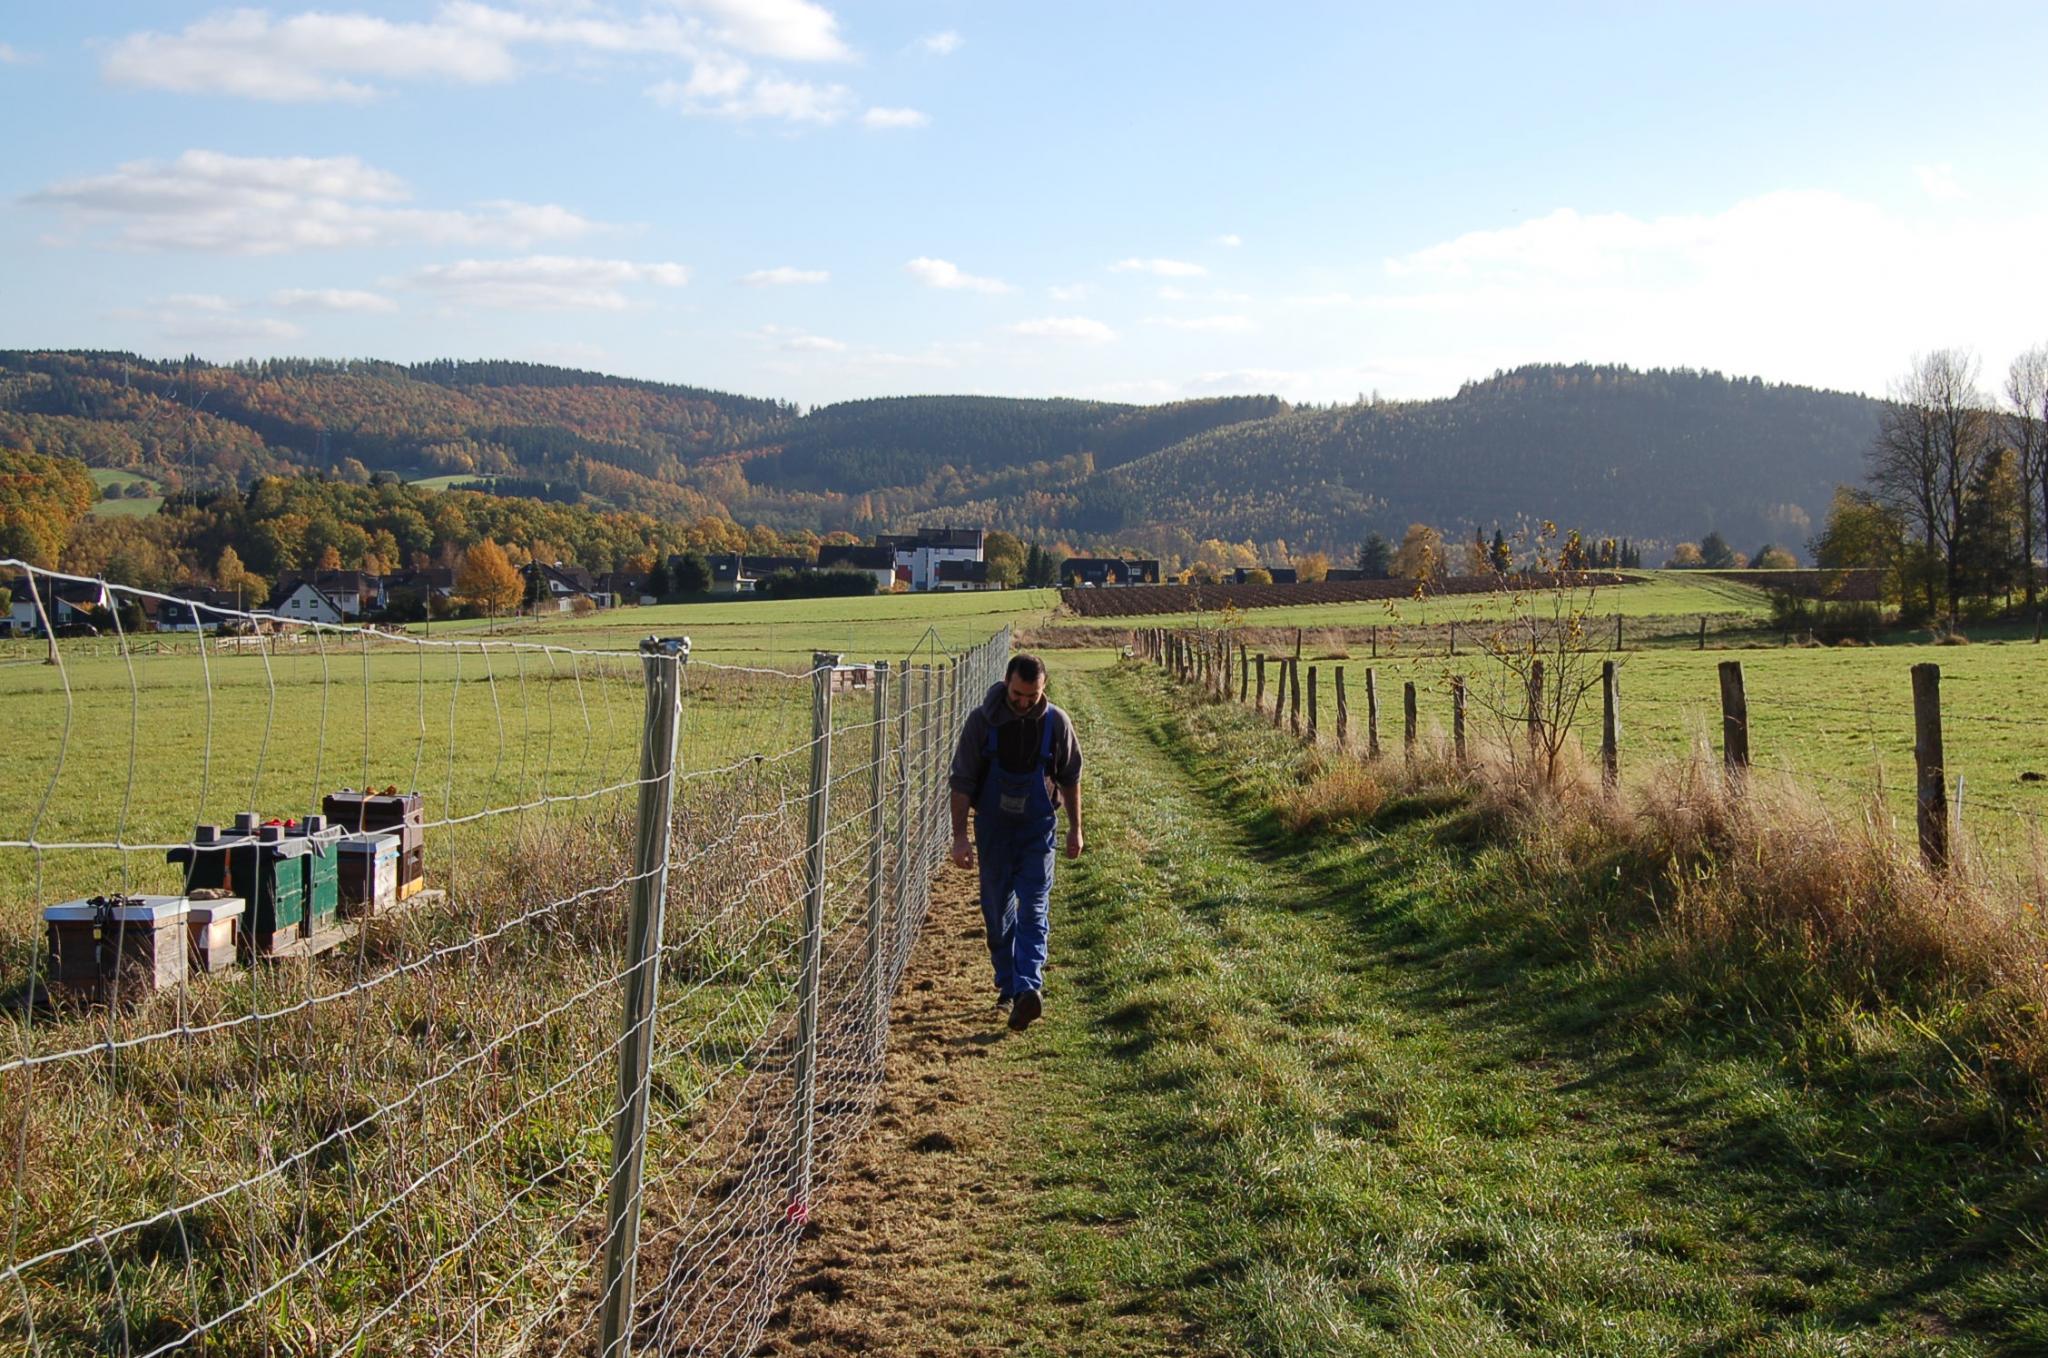
[[131,160],[113,174],[59,180],[25,199],[109,227],[143,250],[279,254],[401,242],[522,248],[571,240],[594,221],[555,205],[479,203],[475,209],[399,207],[395,174],[354,156],[248,158],[184,152],[174,162]]

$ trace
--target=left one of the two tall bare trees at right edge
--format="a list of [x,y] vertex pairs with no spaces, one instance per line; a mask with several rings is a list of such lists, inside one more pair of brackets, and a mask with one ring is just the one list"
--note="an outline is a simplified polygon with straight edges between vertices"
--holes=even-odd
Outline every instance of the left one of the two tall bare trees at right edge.
[[[1993,444],[1989,416],[1976,389],[1976,354],[1937,348],[1915,356],[1913,369],[1892,383],[1892,399],[1878,418],[1878,438],[1870,451],[1870,479],[1878,498],[1919,533],[1929,567],[1933,561],[1944,567],[1950,627],[1956,625],[1962,594],[1956,551],[1962,541],[1962,506]],[[1939,606],[1931,576],[1927,606]]]

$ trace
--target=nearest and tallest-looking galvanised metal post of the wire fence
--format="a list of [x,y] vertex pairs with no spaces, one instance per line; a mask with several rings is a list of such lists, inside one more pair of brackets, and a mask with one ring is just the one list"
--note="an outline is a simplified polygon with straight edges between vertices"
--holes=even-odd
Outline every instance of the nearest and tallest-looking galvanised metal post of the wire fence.
[[625,1018],[618,1036],[618,1112],[612,1120],[612,1174],[604,1208],[604,1358],[623,1354],[633,1333],[633,1282],[639,1264],[641,1168],[647,1157],[647,1073],[653,1063],[655,991],[662,981],[662,916],[668,903],[668,856],[676,805],[676,717],[688,637],[641,641],[647,715],[641,723],[639,819],[633,832],[633,914],[627,922]]

